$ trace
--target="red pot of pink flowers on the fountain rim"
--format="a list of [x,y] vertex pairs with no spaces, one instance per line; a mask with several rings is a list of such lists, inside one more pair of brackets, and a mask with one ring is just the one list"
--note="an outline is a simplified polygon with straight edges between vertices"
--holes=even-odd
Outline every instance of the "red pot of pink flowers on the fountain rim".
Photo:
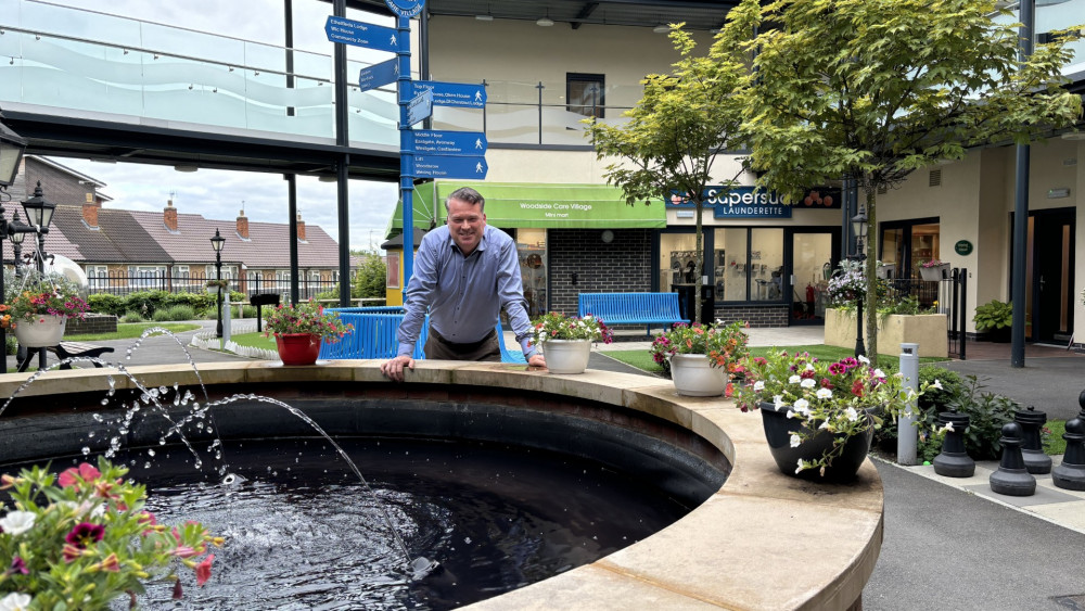
[[275,334],[279,358],[283,365],[312,365],[320,356],[321,342],[337,342],[354,330],[335,313],[312,300],[301,304],[279,305],[264,321],[264,335]]

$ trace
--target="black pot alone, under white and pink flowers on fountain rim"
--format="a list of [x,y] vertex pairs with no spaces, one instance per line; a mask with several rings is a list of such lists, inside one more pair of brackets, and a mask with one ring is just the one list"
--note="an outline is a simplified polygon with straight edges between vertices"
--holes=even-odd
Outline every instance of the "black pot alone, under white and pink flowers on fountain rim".
[[765,424],[768,449],[773,453],[773,458],[781,472],[812,482],[845,483],[855,480],[859,467],[863,466],[863,461],[866,460],[867,454],[870,451],[870,442],[875,436],[873,421],[869,413],[866,415],[866,418],[870,422],[870,427],[867,428],[866,433],[847,440],[843,453],[832,459],[832,464],[826,467],[825,475],[821,475],[819,469],[804,469],[795,473],[795,469],[799,468],[799,459],[817,460],[821,458],[832,446],[832,440],[835,435],[821,431],[800,444],[799,447],[791,447],[791,433],[797,433],[800,430],[805,431],[805,428],[799,425],[797,420],[788,418],[788,411],[791,410],[791,407],[784,405],[777,409],[770,403],[763,403],[758,408]]

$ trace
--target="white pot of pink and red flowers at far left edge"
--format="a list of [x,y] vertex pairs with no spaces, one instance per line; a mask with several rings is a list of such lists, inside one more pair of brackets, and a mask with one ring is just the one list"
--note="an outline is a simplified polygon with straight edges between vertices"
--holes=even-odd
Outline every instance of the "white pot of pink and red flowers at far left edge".
[[55,346],[69,318],[82,319],[90,306],[71,282],[49,277],[28,279],[7,304],[0,305],[0,324],[12,329],[28,348]]

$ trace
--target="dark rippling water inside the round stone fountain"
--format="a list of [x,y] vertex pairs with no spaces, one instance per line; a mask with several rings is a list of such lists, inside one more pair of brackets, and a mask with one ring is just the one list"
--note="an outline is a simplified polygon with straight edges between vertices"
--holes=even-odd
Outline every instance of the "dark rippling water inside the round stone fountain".
[[[319,438],[234,441],[238,476],[201,475],[183,448],[115,462],[146,484],[159,523],[196,520],[227,544],[210,582],[184,583],[180,606],[151,589],[148,609],[450,609],[500,595],[631,545],[691,508],[635,474],[507,445],[336,438],[379,501]],[[80,459],[81,460],[81,459]],[[150,464],[150,468],[146,466]],[[62,470],[66,461],[55,461]],[[214,468],[215,466],[209,466]],[[205,466],[206,472],[212,472]],[[442,568],[418,582],[412,558]]]

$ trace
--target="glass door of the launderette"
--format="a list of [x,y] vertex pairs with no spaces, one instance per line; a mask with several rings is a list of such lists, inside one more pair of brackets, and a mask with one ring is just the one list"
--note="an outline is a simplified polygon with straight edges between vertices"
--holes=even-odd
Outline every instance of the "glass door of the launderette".
[[792,229],[786,295],[791,324],[825,324],[826,289],[835,269],[840,229]]

